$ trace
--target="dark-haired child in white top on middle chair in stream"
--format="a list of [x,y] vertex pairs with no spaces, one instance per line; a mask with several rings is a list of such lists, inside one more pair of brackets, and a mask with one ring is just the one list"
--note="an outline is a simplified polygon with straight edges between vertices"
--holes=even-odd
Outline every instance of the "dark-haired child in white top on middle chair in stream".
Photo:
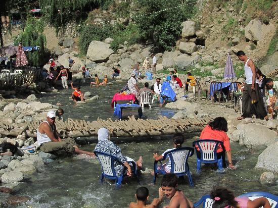
[[[167,149],[166,151],[164,151],[161,155],[158,155],[157,152],[154,153],[154,156],[153,158],[156,160],[156,161],[160,161],[163,157],[164,157],[164,154],[167,152],[167,151],[170,151],[170,150],[173,150],[173,149],[176,149],[176,148],[180,148],[181,147],[181,144],[184,142],[184,136],[182,134],[174,134],[173,136],[173,143],[174,143],[174,148],[171,148],[171,149]],[[166,173],[170,173],[171,171],[171,160],[169,159],[169,155],[167,155],[167,163],[163,164],[163,168],[165,170]],[[166,160],[167,160],[166,159]],[[160,167],[158,167],[158,170],[160,169]],[[154,174],[154,171],[152,172],[152,175]]]

